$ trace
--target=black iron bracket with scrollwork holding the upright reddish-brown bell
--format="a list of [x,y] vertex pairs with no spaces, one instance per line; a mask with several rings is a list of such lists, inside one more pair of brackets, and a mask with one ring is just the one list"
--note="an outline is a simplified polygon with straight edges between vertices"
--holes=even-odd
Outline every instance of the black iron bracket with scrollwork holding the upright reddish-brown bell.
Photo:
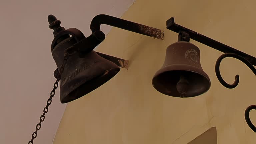
[[[169,20],[167,20],[166,22],[166,26],[167,26],[167,29],[171,30],[171,31],[174,31],[176,33],[179,33],[179,36],[178,36],[178,41],[186,41],[186,40],[189,40],[189,38],[195,40],[195,41],[198,41],[202,44],[205,44],[211,48],[214,48],[216,50],[219,50],[221,52],[224,52],[225,54],[222,54],[216,61],[216,64],[215,64],[215,73],[216,73],[216,76],[219,80],[219,82],[225,86],[226,88],[229,88],[229,89],[232,89],[232,88],[235,88],[238,83],[239,83],[239,75],[236,75],[235,76],[235,81],[233,84],[228,84],[227,82],[225,82],[225,80],[221,77],[221,74],[220,74],[220,62],[226,58],[226,57],[232,57],[232,58],[235,58],[235,59],[238,59],[240,61],[242,61],[244,64],[246,64],[251,70],[252,72],[255,74],[256,76],[256,69],[254,66],[256,66],[256,58],[251,56],[251,55],[248,55],[244,52],[241,52],[237,49],[234,49],[230,46],[227,46],[223,43],[220,43],[216,40],[213,40],[209,37],[206,37],[198,32],[195,32],[195,31],[192,31],[188,28],[185,28],[181,25],[178,25],[174,22],[174,18],[170,18]],[[186,38],[187,36],[187,38]],[[189,37],[189,38],[188,38]],[[254,66],[253,66],[254,65]],[[251,120],[250,120],[250,117],[249,117],[249,112],[251,110],[256,110],[256,105],[251,105],[249,106],[246,110],[245,110],[245,120],[248,124],[248,126],[254,131],[256,132],[256,127],[252,124]]]

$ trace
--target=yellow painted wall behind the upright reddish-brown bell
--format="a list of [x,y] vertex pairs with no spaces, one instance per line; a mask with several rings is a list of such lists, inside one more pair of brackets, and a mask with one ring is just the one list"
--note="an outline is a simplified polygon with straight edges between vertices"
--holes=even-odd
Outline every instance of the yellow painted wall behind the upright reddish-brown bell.
[[[165,30],[164,41],[112,28],[97,51],[130,60],[109,82],[67,105],[54,144],[186,144],[216,126],[218,144],[253,144],[244,110],[256,104],[255,78],[232,58],[221,64],[224,79],[239,86],[223,87],[215,61],[222,53],[191,40],[201,50],[201,64],[211,79],[210,90],[194,98],[157,92],[151,80],[162,66],[177,33],[166,20],[256,56],[256,2],[253,0],[137,0],[123,19]],[[256,112],[251,112],[256,124]]]

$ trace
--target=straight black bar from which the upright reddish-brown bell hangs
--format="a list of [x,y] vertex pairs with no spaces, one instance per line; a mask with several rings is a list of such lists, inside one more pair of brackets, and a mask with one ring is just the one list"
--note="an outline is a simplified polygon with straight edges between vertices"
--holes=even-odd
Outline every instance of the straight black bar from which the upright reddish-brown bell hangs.
[[256,58],[251,56],[251,55],[248,55],[244,52],[241,52],[237,49],[234,49],[230,46],[227,46],[223,43],[220,43],[216,40],[213,40],[209,37],[206,37],[200,33],[197,33],[195,31],[192,31],[188,28],[185,28],[181,25],[178,25],[174,22],[174,18],[170,18],[169,20],[167,20],[166,22],[166,26],[167,26],[167,29],[171,30],[171,31],[174,31],[176,33],[180,33],[180,32],[186,32],[189,34],[189,37],[195,41],[198,41],[202,44],[205,44],[211,48],[214,48],[216,50],[219,50],[221,52],[224,52],[224,53],[234,53],[234,54],[237,54],[239,56],[242,56],[243,58],[245,58],[247,61],[249,61],[252,65],[256,66]]

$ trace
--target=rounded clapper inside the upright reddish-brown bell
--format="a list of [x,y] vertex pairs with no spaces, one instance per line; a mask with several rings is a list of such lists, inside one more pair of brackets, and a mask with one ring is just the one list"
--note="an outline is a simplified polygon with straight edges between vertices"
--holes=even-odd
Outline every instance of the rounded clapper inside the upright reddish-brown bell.
[[189,82],[183,75],[180,75],[180,80],[178,81],[176,88],[180,93],[180,98],[185,97],[187,90],[189,88]]

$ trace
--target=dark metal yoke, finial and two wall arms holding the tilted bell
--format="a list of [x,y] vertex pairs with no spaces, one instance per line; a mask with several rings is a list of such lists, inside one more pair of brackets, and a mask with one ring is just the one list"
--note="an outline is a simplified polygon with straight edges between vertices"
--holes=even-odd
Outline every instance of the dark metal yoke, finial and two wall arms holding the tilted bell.
[[[87,38],[78,29],[70,28],[65,30],[64,27],[60,26],[61,22],[57,20],[57,18],[53,15],[48,16],[48,21],[50,24],[49,27],[54,30],[53,34],[55,39],[52,42],[52,49],[57,44],[57,42],[60,41],[60,39],[64,36],[65,37],[63,39],[69,37],[69,35],[72,35],[73,37],[77,38],[76,40],[78,42],[72,46],[73,48],[68,49],[70,53],[73,53],[74,51],[88,53],[91,50],[93,50],[99,43],[101,43],[105,39],[104,33],[100,31],[101,24],[114,26],[117,28],[132,31],[135,33],[139,33],[142,35],[150,36],[150,37],[161,39],[161,40],[164,39],[164,30],[160,30],[157,28],[149,27],[146,25],[134,23],[131,21],[123,20],[120,18],[116,18],[113,16],[104,15],[104,14],[97,15],[92,19],[91,25],[90,25],[92,34]],[[99,52],[96,52],[96,53],[101,57],[109,61],[112,61],[119,67],[128,69],[128,66],[129,66],[128,60],[106,55]],[[58,69],[54,71],[54,76],[56,77],[57,75],[58,75]]]

